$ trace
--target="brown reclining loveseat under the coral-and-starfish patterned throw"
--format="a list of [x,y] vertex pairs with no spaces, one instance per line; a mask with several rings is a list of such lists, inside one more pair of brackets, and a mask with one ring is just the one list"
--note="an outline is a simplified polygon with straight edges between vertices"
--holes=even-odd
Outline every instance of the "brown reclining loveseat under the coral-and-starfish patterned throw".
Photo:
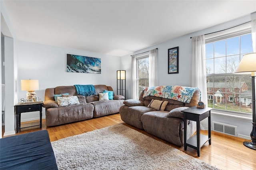
[[[119,111],[122,121],[134,127],[144,129],[146,132],[168,142],[182,146],[184,144],[184,121],[183,117],[180,116],[182,113],[178,113],[178,116],[174,117],[167,116],[169,116],[168,113],[173,109],[177,110],[175,108],[185,109],[185,107],[196,106],[200,100],[200,90],[198,89],[194,92],[190,103],[155,96],[143,98],[143,94],[144,90],[140,94],[139,100],[129,99],[124,101],[125,105],[120,107]],[[159,111],[147,107],[152,99],[168,101],[165,110]],[[190,138],[196,131],[196,122],[188,121],[187,124],[187,138]]]

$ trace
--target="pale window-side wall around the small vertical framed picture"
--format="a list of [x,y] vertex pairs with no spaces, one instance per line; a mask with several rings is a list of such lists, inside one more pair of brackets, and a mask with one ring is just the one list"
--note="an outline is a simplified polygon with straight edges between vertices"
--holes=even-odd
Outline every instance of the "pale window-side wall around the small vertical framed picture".
[[[224,30],[224,29],[231,28],[233,26],[237,26],[239,24],[243,24],[245,22],[248,22],[254,19],[256,19],[256,12],[230,22],[226,22],[205,30],[194,32],[194,33],[170,40],[168,42],[159,43],[151,47],[142,49],[140,51],[136,51],[129,55],[122,56],[121,69],[126,70],[126,77],[127,77],[126,99],[131,98],[131,83],[130,83],[131,82],[131,56],[130,55],[142,53],[150,49],[158,48],[158,55],[157,55],[158,85],[190,86],[190,79],[191,79],[191,76],[190,76],[191,39],[190,37]],[[168,49],[172,47],[177,47],[177,46],[179,47],[179,61],[178,61],[179,73],[168,74]],[[244,118],[244,119],[230,118],[223,115],[220,116],[217,113],[217,114],[212,114],[212,121],[224,122],[230,125],[238,126],[238,136],[244,137],[244,138],[250,138],[249,137],[250,132],[252,131],[252,124],[250,123],[252,121],[251,118],[250,120],[248,120],[248,118]]]

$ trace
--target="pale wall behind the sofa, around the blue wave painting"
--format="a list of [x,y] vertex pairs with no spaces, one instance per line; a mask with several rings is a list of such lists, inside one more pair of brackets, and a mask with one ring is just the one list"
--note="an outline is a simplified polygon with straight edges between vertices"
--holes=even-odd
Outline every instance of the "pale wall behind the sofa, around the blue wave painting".
[[[97,57],[101,59],[101,74],[66,72],[67,54]],[[62,85],[109,85],[116,93],[116,70],[120,69],[120,57],[77,49],[54,47],[38,43],[18,41],[18,100],[26,99],[27,91],[21,91],[20,80],[38,79],[36,97],[44,101],[46,88]],[[43,109],[45,117],[45,109]],[[39,119],[39,113],[22,113],[21,121]]]

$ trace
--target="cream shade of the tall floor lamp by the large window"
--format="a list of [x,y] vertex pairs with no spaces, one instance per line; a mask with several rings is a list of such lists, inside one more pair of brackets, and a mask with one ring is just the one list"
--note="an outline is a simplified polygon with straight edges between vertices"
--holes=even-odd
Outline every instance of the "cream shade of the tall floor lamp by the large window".
[[256,72],[256,53],[244,55],[234,73],[252,74]]

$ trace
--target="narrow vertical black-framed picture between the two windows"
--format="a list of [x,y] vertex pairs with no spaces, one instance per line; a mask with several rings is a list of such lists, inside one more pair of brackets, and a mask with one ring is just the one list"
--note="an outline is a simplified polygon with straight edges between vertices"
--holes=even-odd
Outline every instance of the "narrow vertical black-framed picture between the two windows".
[[168,49],[168,74],[179,73],[179,47]]

